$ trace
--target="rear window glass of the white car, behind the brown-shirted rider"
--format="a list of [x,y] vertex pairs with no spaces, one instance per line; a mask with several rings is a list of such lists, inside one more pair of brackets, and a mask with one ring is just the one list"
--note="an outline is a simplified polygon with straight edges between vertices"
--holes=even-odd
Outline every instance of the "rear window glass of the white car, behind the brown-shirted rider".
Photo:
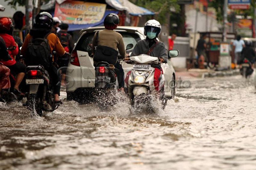
[[[135,33],[130,33],[130,32],[119,32],[119,33],[123,36],[123,41],[124,41],[125,47],[128,44],[133,44],[133,48],[134,48],[137,41],[140,40],[139,35],[137,35]],[[83,37],[81,37],[80,40],[77,42],[76,50],[92,53],[93,35],[94,35],[94,32],[84,34]],[[133,50],[133,48],[130,49],[128,52],[131,52]]]

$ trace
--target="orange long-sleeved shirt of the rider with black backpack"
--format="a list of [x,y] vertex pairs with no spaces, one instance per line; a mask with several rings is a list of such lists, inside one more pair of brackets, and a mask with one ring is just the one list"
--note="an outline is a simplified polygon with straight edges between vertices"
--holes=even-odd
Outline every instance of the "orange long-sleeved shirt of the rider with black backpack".
[[[22,55],[26,55],[26,50],[27,50],[27,46],[28,43],[30,42],[30,39],[32,38],[32,36],[30,34],[28,34],[24,40],[24,43],[22,45],[21,51],[20,53]],[[57,37],[57,35],[51,33],[47,36],[46,38],[48,40],[48,44],[50,46],[50,50],[52,51],[56,51],[56,53],[59,56],[63,56],[65,54],[65,50],[61,45],[60,39]],[[54,61],[54,57],[52,57],[52,61]]]

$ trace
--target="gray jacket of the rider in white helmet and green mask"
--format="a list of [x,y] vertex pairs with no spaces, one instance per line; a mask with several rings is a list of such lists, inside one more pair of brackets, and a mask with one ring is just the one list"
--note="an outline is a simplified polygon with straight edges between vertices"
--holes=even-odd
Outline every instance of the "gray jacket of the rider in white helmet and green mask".
[[[148,47],[149,40],[139,40],[135,45],[131,56],[138,56],[140,54],[148,54],[150,48]],[[153,47],[153,44],[151,47]],[[163,58],[164,62],[167,62],[168,56],[167,51],[165,49],[165,45],[162,41],[158,41],[158,44],[153,48],[153,50],[148,54],[153,57]]]

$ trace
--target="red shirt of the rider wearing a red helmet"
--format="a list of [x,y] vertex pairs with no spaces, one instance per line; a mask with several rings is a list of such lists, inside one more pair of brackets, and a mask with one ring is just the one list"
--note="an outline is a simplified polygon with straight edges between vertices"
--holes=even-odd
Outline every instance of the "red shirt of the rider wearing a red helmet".
[[18,53],[19,53],[19,48],[18,46],[16,45],[15,41],[14,41],[14,38],[9,35],[9,34],[2,34],[0,33],[0,36],[5,40],[5,45],[6,47],[8,48],[9,46],[16,46],[16,49],[15,50],[8,50],[8,53],[10,54],[12,60],[8,60],[8,61],[1,61],[4,65],[14,65],[16,63],[15,59],[14,59],[14,56],[16,56]]

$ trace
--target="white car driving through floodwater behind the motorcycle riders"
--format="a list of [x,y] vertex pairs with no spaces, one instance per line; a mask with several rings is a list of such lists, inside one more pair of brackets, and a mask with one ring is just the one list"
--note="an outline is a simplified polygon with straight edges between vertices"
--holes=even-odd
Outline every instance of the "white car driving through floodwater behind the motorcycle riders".
[[[92,38],[96,31],[104,29],[101,27],[91,27],[81,31],[80,38],[71,53],[70,63],[67,68],[67,100],[77,102],[93,101],[93,91],[95,83],[95,70],[92,59]],[[133,44],[135,47],[137,41],[145,39],[143,27],[118,26],[115,29],[123,36],[124,45]],[[132,49],[126,53],[131,53]],[[124,74],[131,70],[132,65],[122,63]],[[165,76],[165,96],[174,98],[175,96],[175,71],[168,59],[167,63],[162,64]]]

